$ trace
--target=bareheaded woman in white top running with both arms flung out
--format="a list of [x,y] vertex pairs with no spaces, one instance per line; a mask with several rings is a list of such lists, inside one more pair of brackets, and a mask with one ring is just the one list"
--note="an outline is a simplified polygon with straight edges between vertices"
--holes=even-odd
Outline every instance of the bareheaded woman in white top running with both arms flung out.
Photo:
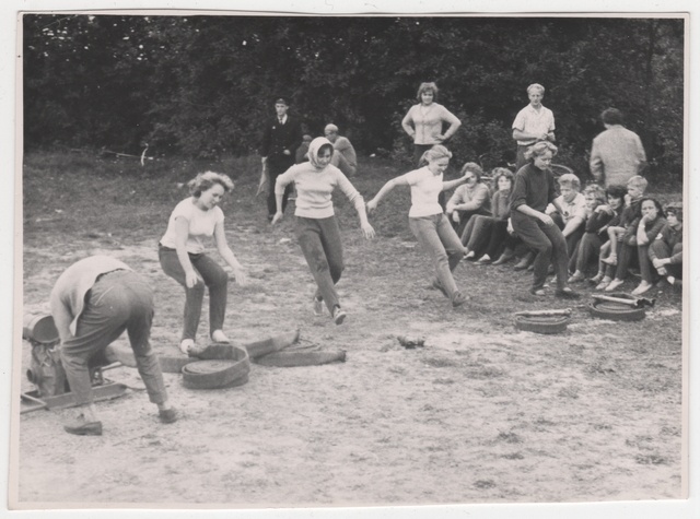
[[452,153],[443,145],[435,145],[423,153],[420,168],[409,172],[386,182],[380,192],[368,202],[368,211],[376,210],[380,201],[395,187],[409,186],[411,189],[411,209],[408,222],[418,243],[431,256],[436,276],[432,286],[450,298],[457,307],[466,302],[459,292],[452,271],[465,255],[459,236],[450,224],[438,201],[438,196],[467,181],[467,175],[456,180],[444,181],[443,173],[450,165]]

